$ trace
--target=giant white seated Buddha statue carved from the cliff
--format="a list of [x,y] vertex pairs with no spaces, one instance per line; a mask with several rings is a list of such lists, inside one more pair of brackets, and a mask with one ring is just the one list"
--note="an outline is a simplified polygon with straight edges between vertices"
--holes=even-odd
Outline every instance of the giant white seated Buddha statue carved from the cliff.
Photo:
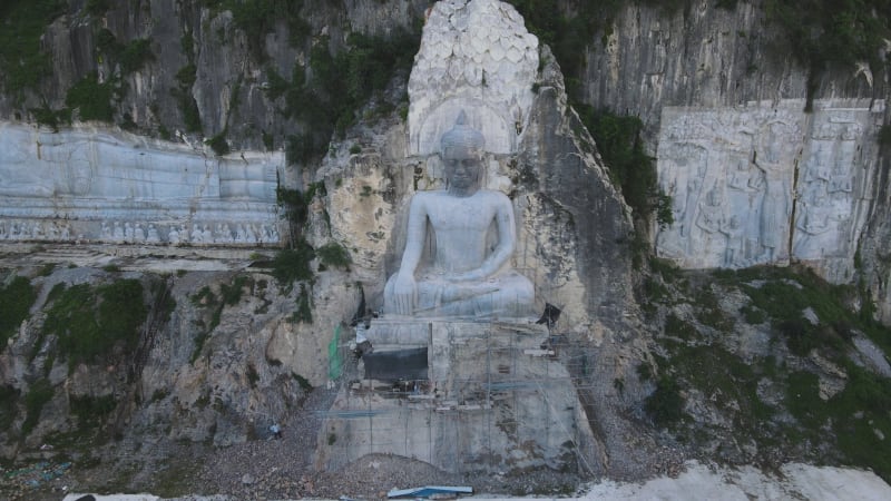
[[532,313],[531,282],[510,267],[513,206],[481,189],[484,138],[464,112],[442,136],[446,189],[414,194],[402,262],[384,287],[384,313],[496,318]]

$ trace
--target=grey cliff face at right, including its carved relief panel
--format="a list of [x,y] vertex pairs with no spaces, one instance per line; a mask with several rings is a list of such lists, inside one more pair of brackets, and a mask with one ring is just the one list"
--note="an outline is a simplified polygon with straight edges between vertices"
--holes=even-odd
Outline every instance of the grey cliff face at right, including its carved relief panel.
[[835,283],[863,277],[887,322],[878,137],[890,96],[870,62],[887,49],[809,66],[770,6],[718,3],[629,4],[585,51],[580,98],[644,121],[674,198],[657,253],[687,268],[793,261]]

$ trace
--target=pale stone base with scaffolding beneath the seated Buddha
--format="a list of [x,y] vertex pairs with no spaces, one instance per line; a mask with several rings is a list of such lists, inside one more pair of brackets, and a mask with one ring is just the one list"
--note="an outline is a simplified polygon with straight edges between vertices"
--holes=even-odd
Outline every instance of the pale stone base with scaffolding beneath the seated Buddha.
[[477,325],[471,335],[449,333],[448,350],[439,351],[448,361],[429,367],[427,380],[381,382],[353,373],[343,381],[340,406],[320,414],[329,466],[392,453],[447,471],[503,469],[507,453],[518,464],[598,473],[590,347],[544,326]]

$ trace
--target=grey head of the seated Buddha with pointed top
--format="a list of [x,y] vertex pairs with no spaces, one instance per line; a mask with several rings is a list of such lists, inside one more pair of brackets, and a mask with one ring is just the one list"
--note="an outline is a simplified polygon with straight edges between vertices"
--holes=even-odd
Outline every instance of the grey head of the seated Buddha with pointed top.
[[476,193],[482,176],[486,138],[467,125],[463,111],[458,116],[454,127],[442,135],[441,145],[449,190],[468,195]]

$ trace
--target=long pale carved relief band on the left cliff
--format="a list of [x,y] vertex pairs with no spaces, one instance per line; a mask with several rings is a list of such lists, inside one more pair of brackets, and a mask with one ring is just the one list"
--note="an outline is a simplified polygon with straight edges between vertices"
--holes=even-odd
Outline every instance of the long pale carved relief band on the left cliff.
[[0,122],[0,240],[277,245],[284,155]]

